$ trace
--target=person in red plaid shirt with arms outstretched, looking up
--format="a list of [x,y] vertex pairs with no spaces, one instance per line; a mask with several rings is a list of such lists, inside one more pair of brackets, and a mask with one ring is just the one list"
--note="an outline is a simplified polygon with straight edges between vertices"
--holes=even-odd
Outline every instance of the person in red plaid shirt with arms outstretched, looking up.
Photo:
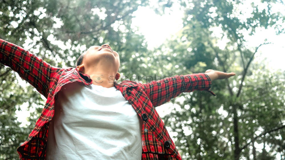
[[0,39],[0,63],[11,67],[47,101],[17,151],[21,159],[181,159],[155,110],[182,92],[209,91],[235,73],[207,70],[142,84],[117,83],[119,54],[92,46],[76,66],[53,67]]

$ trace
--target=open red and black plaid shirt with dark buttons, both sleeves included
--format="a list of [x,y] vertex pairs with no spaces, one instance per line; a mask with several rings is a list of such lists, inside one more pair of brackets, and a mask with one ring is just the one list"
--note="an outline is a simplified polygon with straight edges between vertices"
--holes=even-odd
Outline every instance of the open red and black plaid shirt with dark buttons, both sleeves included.
[[[79,81],[92,84],[89,75],[76,68],[57,68],[23,48],[0,39],[0,62],[19,73],[37,91],[46,97],[46,104],[28,139],[18,147],[20,159],[45,159],[48,122],[54,116],[54,102],[61,87]],[[181,159],[164,123],[155,110],[156,106],[170,101],[182,92],[211,88],[211,80],[205,73],[176,75],[159,81],[142,84],[134,81],[114,82],[143,120],[142,159]]]

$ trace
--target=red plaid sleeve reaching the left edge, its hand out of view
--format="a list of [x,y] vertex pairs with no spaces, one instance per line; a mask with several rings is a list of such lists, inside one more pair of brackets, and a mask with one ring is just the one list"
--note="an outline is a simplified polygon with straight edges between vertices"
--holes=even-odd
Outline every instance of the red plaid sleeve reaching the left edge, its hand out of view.
[[51,73],[58,69],[29,51],[2,39],[0,39],[0,63],[19,73],[21,78],[35,87],[44,97],[48,96]]

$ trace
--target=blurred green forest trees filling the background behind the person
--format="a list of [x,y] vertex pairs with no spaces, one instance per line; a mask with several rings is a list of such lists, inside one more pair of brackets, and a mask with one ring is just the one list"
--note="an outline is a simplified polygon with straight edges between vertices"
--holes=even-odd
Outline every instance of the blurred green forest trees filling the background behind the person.
[[[56,67],[74,67],[86,47],[108,43],[120,54],[121,75],[128,77],[233,71],[235,77],[213,82],[216,97],[194,91],[167,104],[171,110],[162,119],[182,158],[285,159],[285,72],[272,71],[266,61],[256,60],[262,47],[272,42],[247,44],[258,28],[284,34],[285,15],[272,7],[284,2],[156,1],[158,5],[147,0],[0,0],[0,38]],[[139,28],[131,26],[133,13],[141,6],[163,15],[174,3],[184,13],[183,28],[148,49]],[[0,64],[0,159],[18,159],[16,149],[45,102],[17,73]],[[16,116],[23,104],[30,112],[27,124]]]

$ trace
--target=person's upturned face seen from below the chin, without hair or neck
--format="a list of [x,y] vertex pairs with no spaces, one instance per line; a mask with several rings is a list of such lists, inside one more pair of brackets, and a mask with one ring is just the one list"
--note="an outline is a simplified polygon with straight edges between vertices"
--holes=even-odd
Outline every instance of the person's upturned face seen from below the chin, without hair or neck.
[[99,63],[106,65],[118,71],[120,67],[120,57],[116,51],[113,51],[109,44],[102,46],[91,46],[84,54],[83,62],[85,67],[92,67]]

